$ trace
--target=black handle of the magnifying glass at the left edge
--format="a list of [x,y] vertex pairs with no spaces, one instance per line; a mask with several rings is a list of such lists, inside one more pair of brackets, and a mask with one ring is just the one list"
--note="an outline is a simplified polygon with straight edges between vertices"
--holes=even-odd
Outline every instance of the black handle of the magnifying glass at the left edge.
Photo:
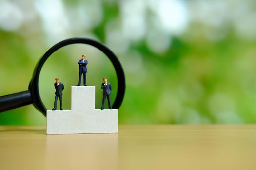
[[33,100],[29,90],[0,97],[0,112],[32,104]]

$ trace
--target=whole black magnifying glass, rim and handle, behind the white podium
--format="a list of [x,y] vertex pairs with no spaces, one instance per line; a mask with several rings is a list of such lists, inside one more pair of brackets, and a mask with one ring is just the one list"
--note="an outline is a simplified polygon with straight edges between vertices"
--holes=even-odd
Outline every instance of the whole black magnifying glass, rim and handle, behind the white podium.
[[7,110],[19,108],[25,105],[33,104],[44,116],[46,116],[47,109],[45,108],[43,102],[41,101],[39,94],[39,75],[41,68],[45,61],[51,56],[52,53],[59,50],[61,47],[70,45],[70,44],[88,44],[98,48],[102,51],[112,62],[115,71],[118,77],[118,91],[116,100],[113,103],[113,108],[118,109],[122,104],[125,92],[125,77],[123,68],[117,58],[117,56],[112,52],[108,47],[101,44],[98,41],[89,38],[76,37],[69,38],[59,43],[55,44],[52,48],[50,48],[39,60],[37,63],[32,79],[29,83],[29,87],[27,91],[22,91],[19,93],[9,94],[0,97],[0,112],[4,112]]

